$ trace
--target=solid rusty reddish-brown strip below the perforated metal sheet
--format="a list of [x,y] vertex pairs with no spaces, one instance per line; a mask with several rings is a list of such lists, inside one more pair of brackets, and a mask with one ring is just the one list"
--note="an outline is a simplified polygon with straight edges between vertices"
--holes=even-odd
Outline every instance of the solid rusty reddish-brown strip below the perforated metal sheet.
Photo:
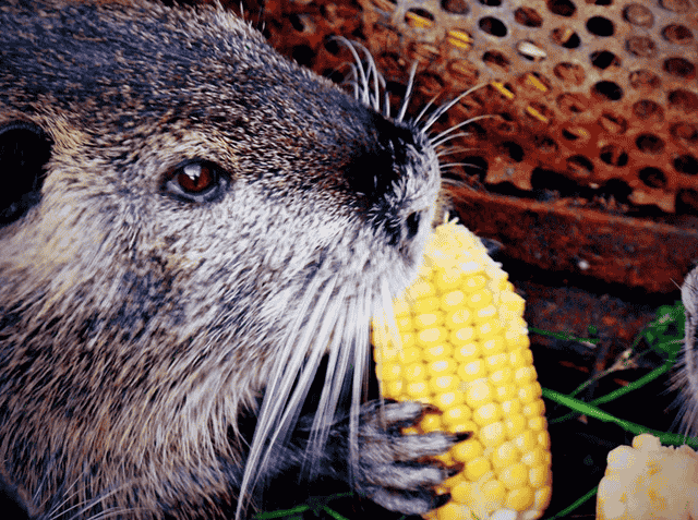
[[505,254],[551,271],[672,292],[698,261],[698,231],[553,203],[454,191],[462,222]]

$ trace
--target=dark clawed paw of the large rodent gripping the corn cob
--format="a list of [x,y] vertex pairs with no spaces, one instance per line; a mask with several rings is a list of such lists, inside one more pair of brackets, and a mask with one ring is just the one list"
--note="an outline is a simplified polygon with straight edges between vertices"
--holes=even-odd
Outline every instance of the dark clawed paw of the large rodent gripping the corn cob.
[[461,468],[446,468],[428,457],[447,451],[470,434],[432,432],[404,435],[401,428],[413,425],[428,410],[418,401],[376,401],[363,406],[359,427],[360,493],[386,509],[406,515],[422,515],[443,506],[449,495],[436,495],[434,486]]

